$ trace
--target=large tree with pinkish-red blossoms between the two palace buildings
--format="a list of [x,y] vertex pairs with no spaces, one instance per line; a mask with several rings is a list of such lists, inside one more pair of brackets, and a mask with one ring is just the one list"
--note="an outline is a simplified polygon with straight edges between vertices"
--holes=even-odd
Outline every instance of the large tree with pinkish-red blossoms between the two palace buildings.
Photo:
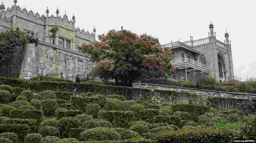
[[161,48],[157,38],[127,30],[110,30],[98,37],[100,42],[82,44],[80,49],[91,54],[91,61],[96,63],[93,73],[115,79],[116,85],[132,86],[145,69],[157,68],[166,74],[173,71],[172,51]]

